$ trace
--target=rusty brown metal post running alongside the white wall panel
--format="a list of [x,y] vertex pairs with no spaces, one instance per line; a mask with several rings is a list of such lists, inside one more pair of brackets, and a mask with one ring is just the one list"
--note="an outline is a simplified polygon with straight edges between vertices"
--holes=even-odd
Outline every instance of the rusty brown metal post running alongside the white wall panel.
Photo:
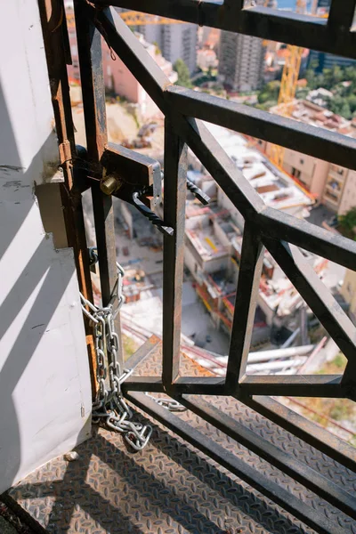
[[[89,267],[89,255],[85,236],[85,222],[80,190],[77,188],[72,160],[76,158],[73,118],[70,105],[69,82],[63,47],[67,39],[66,18],[62,16],[62,0],[39,0],[39,12],[44,35],[48,76],[50,81],[56,134],[60,150],[64,182],[60,184],[63,216],[68,246],[73,248],[80,292],[93,302],[93,287]],[[61,24],[59,24],[61,21]],[[93,328],[85,318],[85,337],[91,370],[93,397],[96,392],[96,359],[93,350]]]

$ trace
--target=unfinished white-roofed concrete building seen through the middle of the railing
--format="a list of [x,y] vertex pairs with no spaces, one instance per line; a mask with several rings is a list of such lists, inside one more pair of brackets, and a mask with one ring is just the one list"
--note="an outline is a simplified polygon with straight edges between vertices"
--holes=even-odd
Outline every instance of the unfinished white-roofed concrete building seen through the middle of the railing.
[[[250,148],[244,137],[221,126],[207,124],[207,127],[268,206],[283,209],[298,217],[309,214],[312,198],[297,187],[287,174],[272,166],[259,151]],[[194,166],[191,155],[190,158],[190,165]],[[195,279],[197,294],[206,305],[214,325],[230,334],[239,278],[243,219],[223,190],[217,187],[216,194],[216,186],[210,176],[190,172],[189,177],[216,200],[205,207],[192,199],[187,203],[185,266]],[[275,263],[266,253],[263,276],[271,279],[274,270]],[[280,269],[277,271],[279,278],[285,279]],[[266,304],[262,296],[260,301],[261,306],[255,316],[253,344],[269,339],[276,312],[273,303]]]

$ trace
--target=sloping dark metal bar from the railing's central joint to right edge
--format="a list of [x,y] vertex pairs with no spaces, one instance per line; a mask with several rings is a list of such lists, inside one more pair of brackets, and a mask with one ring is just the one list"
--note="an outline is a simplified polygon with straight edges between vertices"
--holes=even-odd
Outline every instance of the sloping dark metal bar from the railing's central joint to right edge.
[[352,239],[272,207],[266,207],[258,218],[261,231],[267,238],[283,239],[354,271],[356,242]]

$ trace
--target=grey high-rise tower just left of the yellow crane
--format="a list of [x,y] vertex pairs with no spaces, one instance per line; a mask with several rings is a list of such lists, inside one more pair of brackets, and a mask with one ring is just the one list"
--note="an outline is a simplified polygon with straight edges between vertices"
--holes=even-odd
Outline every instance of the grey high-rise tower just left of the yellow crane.
[[[264,5],[264,0],[257,0],[257,4]],[[276,8],[276,0],[268,7]],[[263,83],[264,53],[262,39],[222,31],[219,76],[234,91],[255,91]]]

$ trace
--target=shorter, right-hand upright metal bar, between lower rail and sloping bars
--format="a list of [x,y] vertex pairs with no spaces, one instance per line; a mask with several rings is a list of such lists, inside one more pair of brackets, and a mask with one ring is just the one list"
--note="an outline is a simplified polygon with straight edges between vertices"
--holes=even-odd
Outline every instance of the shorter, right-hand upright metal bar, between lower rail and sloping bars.
[[245,223],[239,265],[239,280],[232,322],[229,360],[226,371],[228,390],[236,392],[239,377],[245,375],[255,308],[263,267],[264,248],[255,226]]

